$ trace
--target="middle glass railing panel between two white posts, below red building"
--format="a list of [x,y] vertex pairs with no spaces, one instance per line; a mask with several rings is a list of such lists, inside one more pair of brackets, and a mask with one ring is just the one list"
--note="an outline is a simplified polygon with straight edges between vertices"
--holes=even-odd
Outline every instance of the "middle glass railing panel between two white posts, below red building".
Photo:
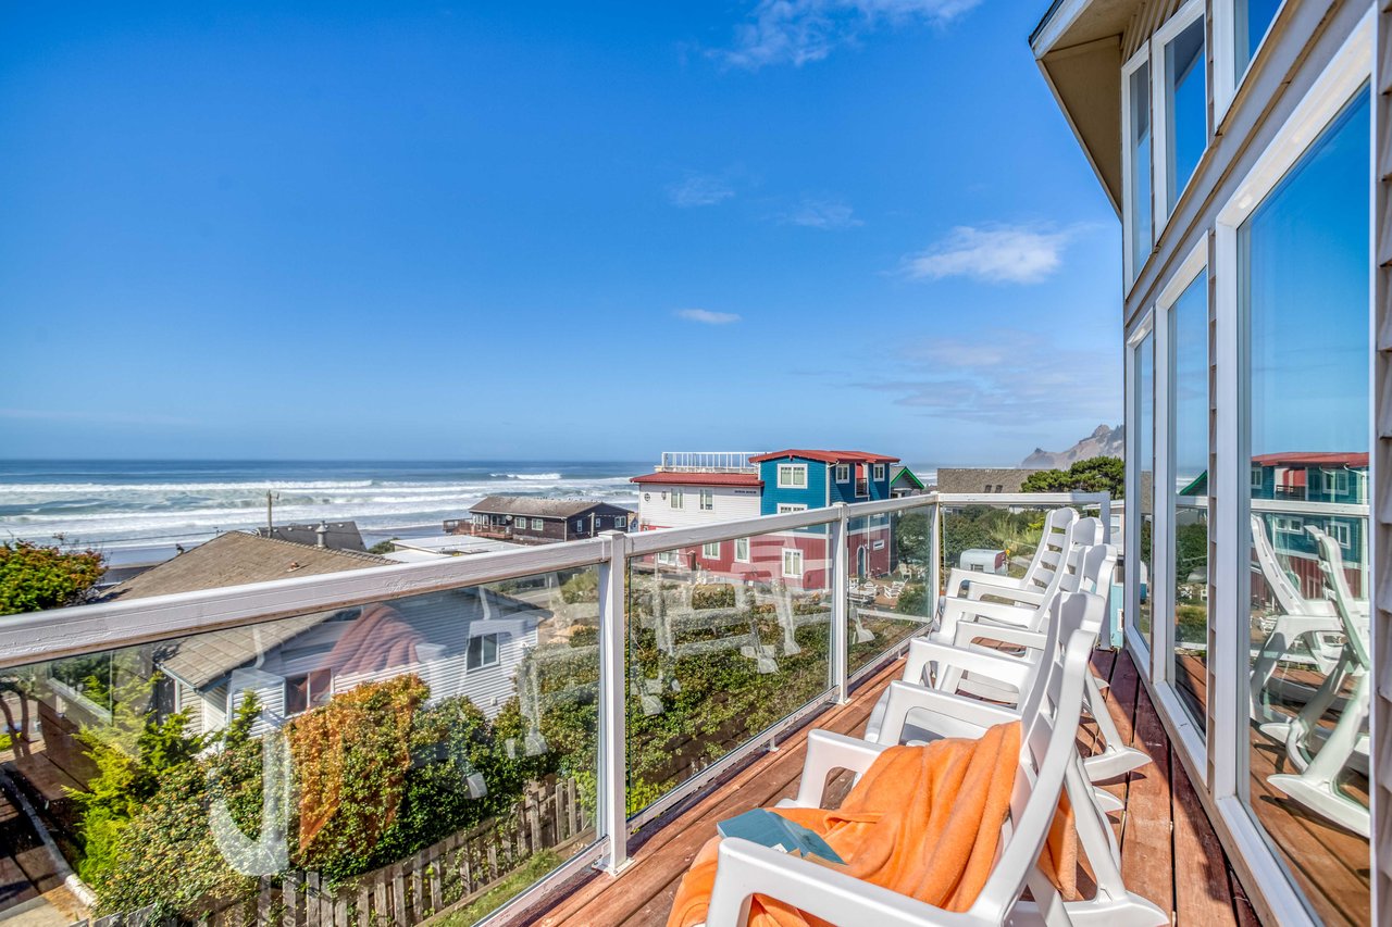
[[628,810],[830,688],[827,525],[629,560]]

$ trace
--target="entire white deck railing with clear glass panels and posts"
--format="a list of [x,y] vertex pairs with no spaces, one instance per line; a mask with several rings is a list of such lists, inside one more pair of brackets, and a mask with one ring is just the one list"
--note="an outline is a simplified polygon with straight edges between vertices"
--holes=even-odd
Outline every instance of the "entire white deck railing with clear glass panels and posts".
[[[1030,512],[1065,504],[1109,523],[1105,494],[927,494],[14,615],[0,676],[42,718],[17,763],[82,781],[92,743],[131,734],[121,718],[184,713],[206,738],[191,761],[213,811],[182,825],[220,860],[168,884],[99,873],[106,913],[153,902],[248,923],[273,895],[284,923],[315,905],[413,923],[490,895],[507,901],[457,923],[501,920],[586,867],[621,873],[631,834],[902,653],[967,541],[958,519],[976,532],[1004,507],[992,530],[1026,544]],[[237,725],[251,739],[219,734]],[[362,768],[393,785],[355,807],[323,775],[369,747]],[[217,810],[234,768],[260,777],[260,825],[245,802]],[[291,781],[298,821],[267,798]],[[276,814],[290,823],[267,825]],[[157,842],[159,827],[125,834]]]

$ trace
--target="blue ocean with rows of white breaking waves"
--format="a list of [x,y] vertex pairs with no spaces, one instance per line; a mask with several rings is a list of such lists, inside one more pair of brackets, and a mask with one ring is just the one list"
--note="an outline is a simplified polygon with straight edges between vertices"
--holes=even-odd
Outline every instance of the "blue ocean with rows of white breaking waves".
[[152,562],[220,532],[274,521],[354,521],[372,544],[438,534],[493,493],[638,504],[628,477],[651,462],[0,461],[0,539],[95,547]]

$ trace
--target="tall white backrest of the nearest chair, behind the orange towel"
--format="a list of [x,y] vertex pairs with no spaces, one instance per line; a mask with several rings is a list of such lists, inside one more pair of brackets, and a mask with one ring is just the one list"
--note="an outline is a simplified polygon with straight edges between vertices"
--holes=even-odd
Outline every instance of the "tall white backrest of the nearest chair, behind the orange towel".
[[1059,597],[1058,631],[1051,651],[1047,696],[1036,700],[1031,713],[1022,713],[1022,740],[1015,789],[1011,796],[1011,820],[1002,828],[1004,843],[995,867],[987,877],[972,914],[1005,923],[1006,913],[1034,876],[1036,862],[1048,839],[1063,777],[1075,761],[1075,739],[1083,711],[1083,683],[1089,660],[1105,611],[1102,599],[1093,593],[1069,593]]

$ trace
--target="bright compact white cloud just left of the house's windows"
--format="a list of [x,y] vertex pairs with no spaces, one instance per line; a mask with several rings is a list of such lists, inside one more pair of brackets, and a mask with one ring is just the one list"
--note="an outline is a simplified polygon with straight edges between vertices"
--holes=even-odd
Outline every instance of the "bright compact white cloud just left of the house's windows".
[[959,225],[927,251],[909,255],[903,273],[915,280],[970,277],[984,283],[1040,283],[1058,270],[1069,232],[1026,225]]

